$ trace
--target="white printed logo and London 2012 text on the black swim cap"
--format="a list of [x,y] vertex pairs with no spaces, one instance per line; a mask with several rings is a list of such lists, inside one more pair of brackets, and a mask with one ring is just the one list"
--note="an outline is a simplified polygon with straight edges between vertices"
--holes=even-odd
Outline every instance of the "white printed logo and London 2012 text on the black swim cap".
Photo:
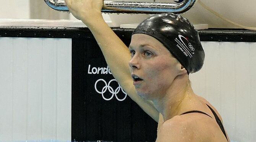
[[[194,54],[194,47],[193,45],[188,41],[188,39],[186,39],[184,36],[182,35],[178,35],[178,38],[175,38],[175,41],[177,42],[177,47],[181,50],[181,52],[183,52],[183,54],[186,57],[190,57],[192,58]],[[188,41],[188,45],[186,45],[183,41],[183,39],[185,39],[186,41]]]

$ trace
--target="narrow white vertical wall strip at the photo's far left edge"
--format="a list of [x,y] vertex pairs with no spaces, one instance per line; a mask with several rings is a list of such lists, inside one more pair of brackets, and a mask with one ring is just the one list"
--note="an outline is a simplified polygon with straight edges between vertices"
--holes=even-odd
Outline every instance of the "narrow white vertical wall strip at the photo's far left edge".
[[12,139],[13,38],[0,38],[0,141]]

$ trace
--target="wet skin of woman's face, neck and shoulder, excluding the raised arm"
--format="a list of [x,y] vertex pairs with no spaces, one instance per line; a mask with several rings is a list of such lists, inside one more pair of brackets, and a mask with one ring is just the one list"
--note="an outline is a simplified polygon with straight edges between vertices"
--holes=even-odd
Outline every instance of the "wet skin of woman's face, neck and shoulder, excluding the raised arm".
[[[190,85],[186,86],[186,71],[162,43],[149,35],[136,33],[132,36],[129,50],[131,75],[142,79],[134,79],[136,93],[153,101],[163,115],[159,118],[157,142],[227,141],[206,106],[211,104],[194,94]],[[190,110],[206,112],[212,118],[199,113],[180,115]]]

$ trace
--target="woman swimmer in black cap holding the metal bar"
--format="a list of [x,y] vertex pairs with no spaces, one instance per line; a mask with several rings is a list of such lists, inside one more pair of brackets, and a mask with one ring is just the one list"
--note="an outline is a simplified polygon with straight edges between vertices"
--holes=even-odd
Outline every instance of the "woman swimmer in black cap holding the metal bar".
[[230,142],[220,114],[191,88],[189,74],[202,68],[204,50],[187,19],[153,15],[134,30],[127,48],[105,23],[102,0],[65,2],[91,30],[125,92],[158,122],[156,142]]

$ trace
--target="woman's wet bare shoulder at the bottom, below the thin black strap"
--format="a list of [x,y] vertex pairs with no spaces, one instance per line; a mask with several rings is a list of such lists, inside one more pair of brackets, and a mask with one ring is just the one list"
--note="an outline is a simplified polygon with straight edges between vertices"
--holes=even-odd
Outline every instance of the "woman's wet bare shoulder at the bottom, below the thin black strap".
[[210,142],[215,125],[208,117],[196,113],[176,115],[162,124],[157,139],[159,142]]

